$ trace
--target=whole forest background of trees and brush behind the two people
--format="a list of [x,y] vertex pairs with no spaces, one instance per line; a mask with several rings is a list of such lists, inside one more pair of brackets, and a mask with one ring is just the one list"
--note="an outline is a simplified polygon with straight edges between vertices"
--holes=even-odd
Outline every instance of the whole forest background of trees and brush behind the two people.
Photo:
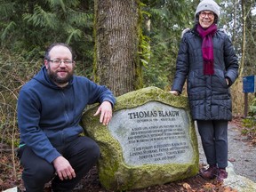
[[[169,91],[181,32],[192,28],[199,0],[1,0],[0,143],[19,145],[16,104],[20,87],[43,66],[54,42],[76,52],[76,75],[106,84],[116,96],[143,87]],[[256,74],[256,1],[225,0],[219,28],[239,58],[232,86],[234,116],[244,116],[243,76]],[[186,86],[184,92],[186,95]],[[249,94],[249,105],[255,98]],[[2,146],[0,145],[0,146]],[[0,148],[0,156],[4,149]]]

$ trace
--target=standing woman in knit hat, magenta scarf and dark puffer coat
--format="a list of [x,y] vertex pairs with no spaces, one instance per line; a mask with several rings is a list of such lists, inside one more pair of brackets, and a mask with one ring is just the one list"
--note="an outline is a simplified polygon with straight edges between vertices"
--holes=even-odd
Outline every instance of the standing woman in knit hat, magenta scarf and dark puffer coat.
[[195,26],[182,36],[171,93],[180,95],[187,79],[189,106],[209,164],[200,174],[221,182],[228,177],[229,87],[238,76],[238,61],[228,35],[217,27],[219,16],[213,0],[198,4]]

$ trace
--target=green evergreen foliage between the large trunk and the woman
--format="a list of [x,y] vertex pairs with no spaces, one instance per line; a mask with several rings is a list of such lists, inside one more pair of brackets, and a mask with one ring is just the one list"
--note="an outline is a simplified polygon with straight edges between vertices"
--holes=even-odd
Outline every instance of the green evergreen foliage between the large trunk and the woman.
[[143,0],[144,34],[150,39],[150,58],[144,86],[168,88],[175,71],[181,32],[193,26],[194,4],[189,0]]

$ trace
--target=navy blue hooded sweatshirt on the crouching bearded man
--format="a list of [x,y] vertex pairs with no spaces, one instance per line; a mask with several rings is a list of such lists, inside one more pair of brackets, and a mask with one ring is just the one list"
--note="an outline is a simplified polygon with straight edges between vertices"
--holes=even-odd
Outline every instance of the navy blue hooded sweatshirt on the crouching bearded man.
[[20,90],[18,125],[20,146],[27,145],[49,163],[60,156],[55,147],[76,139],[87,104],[116,100],[106,86],[83,76],[73,76],[68,86],[53,84],[45,67]]

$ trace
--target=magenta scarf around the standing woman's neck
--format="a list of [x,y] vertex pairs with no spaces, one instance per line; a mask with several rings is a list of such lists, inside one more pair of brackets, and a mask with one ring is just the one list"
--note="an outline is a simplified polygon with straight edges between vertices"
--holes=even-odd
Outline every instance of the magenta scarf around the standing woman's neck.
[[213,62],[213,44],[212,36],[217,31],[216,24],[212,24],[209,28],[202,28],[200,25],[197,25],[196,28],[199,35],[203,38],[202,43],[202,53],[204,59],[204,75],[213,75],[214,74],[214,62]]

